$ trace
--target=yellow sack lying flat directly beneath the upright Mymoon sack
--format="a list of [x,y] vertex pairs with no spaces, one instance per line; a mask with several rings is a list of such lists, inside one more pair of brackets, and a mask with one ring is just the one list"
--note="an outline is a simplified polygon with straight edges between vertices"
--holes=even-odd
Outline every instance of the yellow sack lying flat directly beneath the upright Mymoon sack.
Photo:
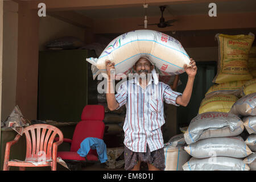
[[245,83],[246,83],[246,80],[230,81],[222,84],[214,84],[209,88],[207,93],[205,93],[205,97],[209,97],[217,94],[232,94],[238,97],[241,95],[242,86]]

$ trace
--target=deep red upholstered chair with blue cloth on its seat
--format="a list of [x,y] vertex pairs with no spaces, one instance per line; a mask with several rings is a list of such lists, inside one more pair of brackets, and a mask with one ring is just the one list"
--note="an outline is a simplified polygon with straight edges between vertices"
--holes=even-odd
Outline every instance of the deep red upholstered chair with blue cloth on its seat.
[[[70,151],[57,152],[57,156],[63,160],[80,162],[98,162],[97,150],[90,150],[86,158],[77,154],[81,142],[87,137],[102,139],[104,136],[105,109],[102,105],[86,105],[82,110],[81,121],[77,123],[73,138],[64,138],[64,142],[71,143]],[[56,138],[57,140],[57,138]]]

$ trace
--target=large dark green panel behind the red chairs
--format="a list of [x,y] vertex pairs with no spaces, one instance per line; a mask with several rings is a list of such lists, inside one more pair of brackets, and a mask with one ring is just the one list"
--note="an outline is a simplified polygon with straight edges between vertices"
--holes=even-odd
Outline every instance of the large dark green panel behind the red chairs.
[[38,119],[80,121],[88,103],[87,50],[40,51]]

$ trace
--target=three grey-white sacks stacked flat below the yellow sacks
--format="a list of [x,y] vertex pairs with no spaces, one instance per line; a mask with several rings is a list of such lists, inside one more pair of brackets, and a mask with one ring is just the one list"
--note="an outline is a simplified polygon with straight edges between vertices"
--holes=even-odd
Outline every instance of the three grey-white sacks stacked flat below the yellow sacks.
[[244,129],[235,114],[208,112],[192,119],[184,134],[188,146],[184,150],[192,158],[184,171],[248,171],[242,158],[252,154],[239,135]]

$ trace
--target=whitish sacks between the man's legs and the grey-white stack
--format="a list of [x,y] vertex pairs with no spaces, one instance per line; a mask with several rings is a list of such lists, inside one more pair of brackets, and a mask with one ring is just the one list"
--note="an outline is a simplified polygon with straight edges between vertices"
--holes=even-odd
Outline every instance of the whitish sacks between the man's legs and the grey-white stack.
[[184,135],[179,134],[172,137],[164,144],[164,156],[166,168],[164,171],[183,171],[185,164],[191,156],[184,150],[186,145]]

